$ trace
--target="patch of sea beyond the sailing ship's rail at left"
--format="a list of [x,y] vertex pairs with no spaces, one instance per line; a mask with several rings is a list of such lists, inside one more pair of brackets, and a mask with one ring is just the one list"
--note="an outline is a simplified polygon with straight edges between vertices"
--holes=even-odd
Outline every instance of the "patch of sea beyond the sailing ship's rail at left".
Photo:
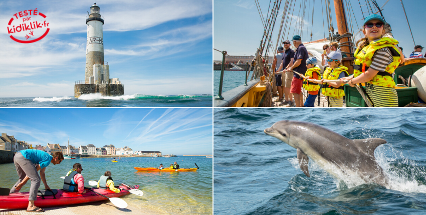
[[[253,73],[253,71],[251,71]],[[251,73],[250,73],[251,75]],[[250,81],[249,76],[247,82]],[[246,78],[246,71],[224,71],[224,83],[222,92],[226,92],[239,85],[243,85]],[[219,83],[221,82],[221,71],[213,71],[213,92],[215,95],[219,93]]]

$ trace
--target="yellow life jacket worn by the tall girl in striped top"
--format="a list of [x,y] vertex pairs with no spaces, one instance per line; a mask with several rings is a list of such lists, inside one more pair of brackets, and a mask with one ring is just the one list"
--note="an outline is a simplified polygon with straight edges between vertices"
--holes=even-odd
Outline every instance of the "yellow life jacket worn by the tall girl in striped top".
[[354,77],[357,77],[362,73],[363,63],[365,63],[364,71],[368,69],[368,67],[371,65],[373,55],[377,49],[380,49],[383,47],[389,47],[390,52],[392,53],[392,56],[393,56],[393,62],[388,64],[384,71],[379,71],[373,77],[373,79],[371,79],[367,83],[371,83],[378,86],[384,86],[384,87],[395,87],[395,81],[393,81],[392,73],[396,69],[396,67],[398,67],[399,58],[401,56],[398,48],[395,47],[395,45],[398,43],[399,42],[396,39],[382,37],[376,41],[370,42],[370,44],[362,48],[361,51],[359,50],[359,48],[357,48],[354,53],[354,56],[355,56],[355,63],[353,65]]

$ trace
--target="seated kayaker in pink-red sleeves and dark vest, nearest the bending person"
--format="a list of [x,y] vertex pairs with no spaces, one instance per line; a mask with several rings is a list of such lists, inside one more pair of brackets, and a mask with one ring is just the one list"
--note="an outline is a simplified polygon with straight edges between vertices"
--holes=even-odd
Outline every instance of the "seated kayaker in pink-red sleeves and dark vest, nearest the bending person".
[[80,163],[74,163],[73,168],[67,173],[64,179],[64,190],[69,192],[86,193],[84,189],[84,177],[81,175],[83,167]]

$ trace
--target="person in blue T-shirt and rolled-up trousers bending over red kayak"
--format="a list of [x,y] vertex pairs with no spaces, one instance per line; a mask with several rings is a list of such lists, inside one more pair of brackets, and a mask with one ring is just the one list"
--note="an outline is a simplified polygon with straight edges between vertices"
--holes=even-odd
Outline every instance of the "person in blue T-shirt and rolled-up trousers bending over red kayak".
[[[50,163],[54,165],[59,164],[62,160],[64,160],[64,155],[60,151],[55,152],[53,156],[45,151],[37,149],[21,150],[15,154],[14,163],[19,179],[14,187],[12,187],[11,193],[19,192],[28,179],[31,179],[30,197],[28,198],[29,202],[27,207],[28,212],[44,211],[42,208],[34,205],[34,201],[37,199],[37,190],[39,190],[40,187],[40,176],[45,184],[45,188],[50,189],[46,182],[46,166]],[[40,176],[38,170],[40,170]]]

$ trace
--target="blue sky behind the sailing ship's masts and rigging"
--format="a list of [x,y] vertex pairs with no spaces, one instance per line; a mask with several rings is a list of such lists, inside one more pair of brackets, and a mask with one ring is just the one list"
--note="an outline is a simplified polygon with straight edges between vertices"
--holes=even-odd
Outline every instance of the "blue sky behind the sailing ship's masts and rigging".
[[[312,6],[313,1],[315,1],[314,9],[314,21],[312,26]],[[382,5],[387,0],[377,0],[377,4],[382,7]],[[263,12],[264,18],[268,12],[269,1],[259,1],[260,7]],[[272,1],[273,2],[273,1]],[[275,47],[278,38],[278,31],[280,28],[280,22],[284,10],[285,0],[281,1],[281,7],[279,10],[279,15],[275,23],[274,33],[272,36],[272,41]],[[294,1],[293,1],[294,2]],[[300,0],[296,1],[296,7],[293,13],[293,23],[296,22],[298,18],[298,12],[300,7]],[[304,2],[304,1],[303,1]],[[325,34],[328,37],[327,31],[327,17],[325,13],[325,1],[324,0],[307,0],[310,2],[305,11],[305,22],[304,22],[304,33],[302,36],[303,41],[310,40],[311,27],[313,28],[312,40],[324,38],[324,27],[323,27],[323,17],[325,22]],[[321,2],[324,5],[324,13],[322,13]],[[334,13],[334,3],[333,0],[330,0],[333,27],[337,31],[336,24],[336,15]],[[346,0],[344,0],[346,2]],[[356,21],[358,22],[359,27],[362,27],[363,17],[360,9],[358,0],[350,0]],[[360,0],[361,4],[365,4],[365,0]],[[426,47],[426,28],[423,23],[423,15],[426,10],[426,1],[424,0],[403,0],[405,11],[407,12],[408,21],[411,26],[413,37],[416,44]],[[371,3],[370,3],[371,4]],[[367,16],[367,6],[362,6],[362,11],[364,11],[364,16]],[[375,10],[373,10],[375,11]],[[308,20],[309,13],[309,20]],[[403,52],[408,57],[409,54],[414,51],[414,43],[409,32],[407,21],[405,19],[405,14],[401,6],[400,0],[389,0],[386,5],[384,5],[382,10],[383,16],[387,22],[392,26],[392,33],[395,39],[400,43],[399,46],[404,48]],[[218,50],[226,50],[230,55],[254,55],[256,48],[259,47],[260,40],[262,39],[264,27],[256,7],[254,0],[215,0],[214,3],[214,48]],[[346,12],[348,15],[348,12]],[[324,16],[323,16],[324,15]],[[352,15],[353,16],[353,15]],[[352,18],[353,19],[353,18]],[[355,20],[352,20],[356,30]],[[308,31],[306,31],[308,29]],[[297,29],[296,29],[297,31]],[[294,31],[294,24],[290,27],[290,34],[288,38],[292,39]],[[300,32],[299,32],[300,33]],[[297,34],[297,33],[294,33]],[[282,35],[282,34],[281,34]],[[287,34],[286,34],[287,35]],[[360,38],[360,37],[359,37]],[[357,38],[357,39],[359,39]],[[279,46],[279,45],[278,45]],[[423,54],[426,49],[423,49]],[[219,51],[214,51],[214,59],[222,60],[222,54]]]

